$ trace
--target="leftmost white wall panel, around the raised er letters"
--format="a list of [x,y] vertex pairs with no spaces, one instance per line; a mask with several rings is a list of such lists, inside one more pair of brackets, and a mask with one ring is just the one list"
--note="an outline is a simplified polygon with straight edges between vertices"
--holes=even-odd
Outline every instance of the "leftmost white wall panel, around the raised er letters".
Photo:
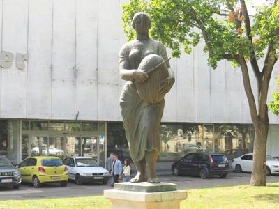
[[[25,54],[28,36],[28,0],[3,1],[2,50]],[[1,117],[27,116],[27,68],[18,70],[15,58],[11,68],[1,70]]]

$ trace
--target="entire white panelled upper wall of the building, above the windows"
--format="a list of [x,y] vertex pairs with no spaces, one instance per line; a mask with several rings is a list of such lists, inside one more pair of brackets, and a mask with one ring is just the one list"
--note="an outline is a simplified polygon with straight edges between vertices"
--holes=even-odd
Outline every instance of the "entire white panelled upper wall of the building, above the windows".
[[[15,61],[1,69],[0,117],[75,120],[79,112],[79,120],[121,121],[125,82],[118,56],[126,42],[121,4],[127,1],[0,0],[1,49],[30,55],[24,70]],[[251,123],[241,70],[227,61],[212,70],[202,48],[170,61],[176,83],[166,95],[163,121]],[[270,90],[277,74],[278,64]],[[270,114],[270,123],[279,117]]]

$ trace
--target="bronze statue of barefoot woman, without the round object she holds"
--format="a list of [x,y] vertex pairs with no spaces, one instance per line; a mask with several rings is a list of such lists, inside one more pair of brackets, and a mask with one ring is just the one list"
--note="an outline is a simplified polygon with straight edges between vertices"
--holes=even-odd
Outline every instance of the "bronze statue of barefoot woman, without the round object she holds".
[[[157,54],[167,60],[167,52],[161,42],[149,38],[150,17],[146,13],[137,13],[133,17],[133,29],[137,38],[121,48],[119,52],[119,70],[123,80],[120,106],[123,126],[130,148],[130,156],[137,168],[137,175],[131,182],[160,183],[156,175],[156,161],[161,150],[160,121],[163,116],[165,100],[148,104],[140,98],[137,83],[149,79],[148,73],[138,69],[142,59],[150,54]],[[167,93],[174,84],[174,73],[166,62],[168,77],[160,82],[159,93]]]

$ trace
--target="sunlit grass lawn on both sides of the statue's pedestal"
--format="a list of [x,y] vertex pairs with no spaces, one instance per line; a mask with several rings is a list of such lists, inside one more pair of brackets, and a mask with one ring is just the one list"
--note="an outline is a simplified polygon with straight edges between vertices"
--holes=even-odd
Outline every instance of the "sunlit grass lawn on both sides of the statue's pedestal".
[[[6,208],[107,209],[112,205],[104,196],[80,196],[0,201],[0,209]],[[268,183],[266,187],[239,185],[188,189],[188,199],[181,201],[181,208],[279,208],[279,183]]]

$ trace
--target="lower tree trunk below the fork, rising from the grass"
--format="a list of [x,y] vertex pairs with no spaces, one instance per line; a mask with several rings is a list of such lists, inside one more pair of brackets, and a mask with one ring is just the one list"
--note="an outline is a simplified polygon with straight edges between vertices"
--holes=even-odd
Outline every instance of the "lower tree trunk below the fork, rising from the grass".
[[269,132],[269,122],[259,121],[255,127],[254,151],[251,186],[266,185],[266,140]]

